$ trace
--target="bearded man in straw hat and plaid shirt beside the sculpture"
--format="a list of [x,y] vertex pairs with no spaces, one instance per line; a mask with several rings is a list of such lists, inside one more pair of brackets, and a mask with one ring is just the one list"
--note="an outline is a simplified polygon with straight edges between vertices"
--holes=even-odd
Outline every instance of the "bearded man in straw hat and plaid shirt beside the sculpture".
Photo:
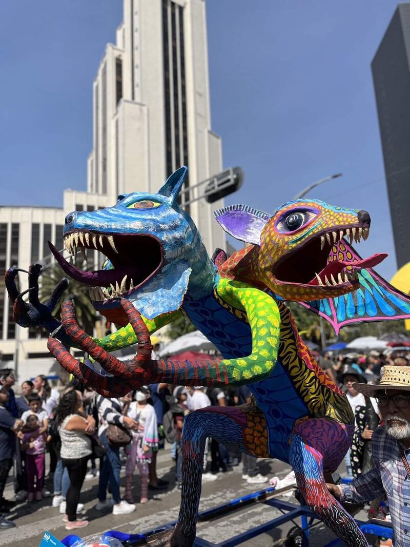
[[374,468],[350,485],[327,484],[341,502],[364,503],[385,494],[395,547],[410,546],[410,366],[384,366],[378,385],[354,383],[376,397],[384,425],[372,437]]

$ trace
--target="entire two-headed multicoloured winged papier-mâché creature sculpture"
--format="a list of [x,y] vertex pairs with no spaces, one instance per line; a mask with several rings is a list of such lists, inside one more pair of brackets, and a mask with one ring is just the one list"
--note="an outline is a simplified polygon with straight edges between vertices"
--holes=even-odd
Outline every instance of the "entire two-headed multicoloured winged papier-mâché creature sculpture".
[[[107,257],[102,270],[82,272],[50,245],[66,274],[91,287],[96,309],[123,328],[92,340],[75,321],[68,301],[60,324],[51,311],[66,282],[49,302],[39,304],[36,265],[31,266],[28,302],[15,286],[17,269],[6,274],[14,317],[21,325],[41,324],[54,333],[48,342],[51,353],[106,396],[159,381],[249,386],[254,395],[250,404],[211,407],[186,418],[179,520],[158,545],[194,541],[207,437],[290,462],[309,507],[345,544],[367,545],[324,481],[324,473],[337,468],[350,446],[350,406],[298,336],[283,300],[301,301],[336,329],[345,321],[410,317],[408,298],[372,271],[385,255],[362,260],[348,243],[367,238],[370,216],[317,200],[291,201],[272,216],[250,207],[227,207],[215,213],[216,220],[251,245],[227,260],[216,253],[216,267],[191,218],[178,206],[185,175],[186,168],[180,168],[158,194],[119,196],[113,207],[66,217],[68,251],[97,248]],[[218,347],[221,362],[151,360],[149,334],[181,313]],[[137,340],[137,355],[128,362],[110,355]],[[67,346],[84,349],[97,363],[80,363]]]

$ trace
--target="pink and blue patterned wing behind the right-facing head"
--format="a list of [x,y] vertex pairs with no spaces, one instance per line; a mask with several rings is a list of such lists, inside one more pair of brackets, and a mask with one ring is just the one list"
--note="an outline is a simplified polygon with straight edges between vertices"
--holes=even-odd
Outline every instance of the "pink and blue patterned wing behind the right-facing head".
[[[361,260],[345,240],[333,246],[329,261],[333,260],[333,257],[352,263]],[[347,269],[351,267],[347,266]],[[336,334],[342,327],[351,323],[410,318],[410,298],[406,294],[391,286],[372,268],[357,271],[360,288],[353,293],[300,304],[329,321]]]

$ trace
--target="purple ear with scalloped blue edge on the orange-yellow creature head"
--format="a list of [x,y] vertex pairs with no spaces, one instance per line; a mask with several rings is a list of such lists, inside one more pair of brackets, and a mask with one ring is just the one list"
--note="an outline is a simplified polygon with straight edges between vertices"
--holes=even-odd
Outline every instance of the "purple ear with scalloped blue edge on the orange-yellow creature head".
[[216,222],[231,236],[259,245],[263,226],[271,218],[248,205],[230,205],[214,212]]

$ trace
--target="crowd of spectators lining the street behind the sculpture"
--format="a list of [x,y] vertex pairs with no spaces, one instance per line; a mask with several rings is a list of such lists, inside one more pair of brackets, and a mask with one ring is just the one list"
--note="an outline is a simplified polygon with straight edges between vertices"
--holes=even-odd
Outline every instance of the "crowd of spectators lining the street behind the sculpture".
[[[400,357],[394,353],[385,356],[379,351],[325,353],[320,364],[342,387],[355,415],[354,441],[345,464],[348,476],[357,478],[373,468],[370,441],[382,414],[376,399],[359,393],[353,384],[376,385],[386,364],[410,366],[410,352]],[[89,521],[84,516],[80,493],[84,480],[93,478],[98,479],[97,510],[112,510],[113,515],[132,513],[136,510],[133,492],[136,468],[139,503],[147,503],[150,492],[174,486],[157,476],[157,454],[165,441],[172,446],[175,487],[180,488],[185,416],[209,405],[242,405],[251,397],[245,386],[188,388],[156,383],[121,399],[104,398],[75,378],[57,391],[43,375],[24,381],[21,395],[16,397],[14,383],[13,370],[0,370],[0,529],[15,526],[15,522],[7,519],[15,504],[36,502],[43,497],[50,497],[52,506],[60,508],[66,529],[87,526]],[[260,473],[256,458],[208,439],[203,481],[216,480],[219,472],[226,472],[241,461],[243,481],[255,485],[268,481]],[[46,467],[48,478],[52,478],[52,492],[45,487]],[[124,495],[120,488],[122,467],[125,467]],[[15,501],[3,496],[11,468]]]

